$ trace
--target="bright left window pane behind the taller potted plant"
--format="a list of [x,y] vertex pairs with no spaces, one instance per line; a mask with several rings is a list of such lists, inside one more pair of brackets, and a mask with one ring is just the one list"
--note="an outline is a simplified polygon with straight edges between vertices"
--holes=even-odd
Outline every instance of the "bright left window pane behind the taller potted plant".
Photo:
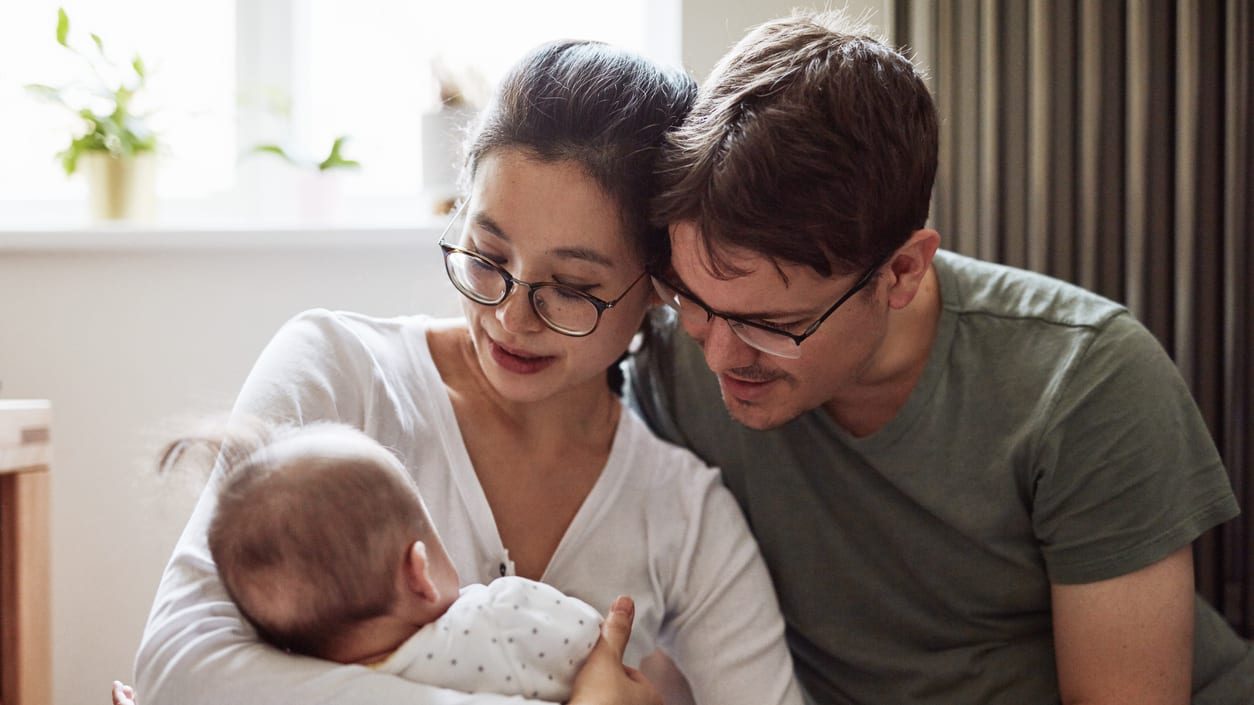
[[[70,19],[69,43],[129,64],[143,56],[150,82],[135,109],[153,112],[163,144],[162,197],[206,197],[234,178],[234,6],[163,0],[23,0],[0,6],[0,133],[10,135],[0,198],[82,198],[82,176],[68,179],[55,154],[78,129],[68,110],[38,100],[28,83],[90,82],[87,63],[56,44],[56,8]],[[20,135],[20,138],[19,138]],[[14,168],[16,166],[18,168]]]

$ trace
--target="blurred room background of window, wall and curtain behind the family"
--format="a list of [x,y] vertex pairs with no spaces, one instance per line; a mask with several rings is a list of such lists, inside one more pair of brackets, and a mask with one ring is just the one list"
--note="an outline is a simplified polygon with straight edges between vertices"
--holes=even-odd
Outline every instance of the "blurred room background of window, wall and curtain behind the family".
[[[459,130],[514,59],[548,39],[602,39],[700,80],[795,5],[0,4],[0,398],[53,408],[48,701],[104,702],[132,677],[197,492],[194,478],[157,478],[153,454],[229,408],[286,319],[458,312],[434,246],[440,212]],[[928,74],[943,246],[1125,302],[1176,360],[1246,508],[1198,543],[1198,585],[1249,636],[1250,3],[846,11]]]

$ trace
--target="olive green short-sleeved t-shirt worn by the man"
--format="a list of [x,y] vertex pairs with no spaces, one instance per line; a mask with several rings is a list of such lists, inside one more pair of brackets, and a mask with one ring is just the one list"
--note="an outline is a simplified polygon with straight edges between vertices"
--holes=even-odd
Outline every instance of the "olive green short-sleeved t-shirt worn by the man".
[[[663,327],[628,369],[655,432],[722,468],[820,704],[1058,702],[1050,585],[1142,568],[1238,514],[1175,365],[1122,306],[938,252],[917,388],[855,438],[735,423]],[[1196,602],[1194,702],[1254,702],[1254,651]]]

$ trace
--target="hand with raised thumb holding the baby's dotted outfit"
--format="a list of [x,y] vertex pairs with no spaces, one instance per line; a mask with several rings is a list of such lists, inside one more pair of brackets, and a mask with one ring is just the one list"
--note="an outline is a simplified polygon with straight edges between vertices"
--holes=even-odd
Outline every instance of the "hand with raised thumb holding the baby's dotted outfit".
[[631,597],[614,600],[601,625],[601,639],[574,679],[568,705],[662,705],[662,697],[648,679],[623,665],[635,617],[636,605]]

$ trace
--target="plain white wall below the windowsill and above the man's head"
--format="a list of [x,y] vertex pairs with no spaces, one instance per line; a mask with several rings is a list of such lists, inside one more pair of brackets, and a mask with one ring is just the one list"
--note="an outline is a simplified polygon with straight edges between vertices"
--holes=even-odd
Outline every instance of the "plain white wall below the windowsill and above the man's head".
[[[850,0],[849,11],[877,10],[882,23],[882,5]],[[791,8],[682,0],[686,65],[703,78],[745,29]],[[229,408],[283,320],[312,306],[458,307],[433,232],[361,247],[234,250],[171,248],[150,235],[122,251],[16,251],[0,232],[0,394],[51,399],[55,415],[55,705],[103,704],[113,679],[132,677],[158,577],[194,501],[188,483],[154,478],[153,453],[182,423]]]

